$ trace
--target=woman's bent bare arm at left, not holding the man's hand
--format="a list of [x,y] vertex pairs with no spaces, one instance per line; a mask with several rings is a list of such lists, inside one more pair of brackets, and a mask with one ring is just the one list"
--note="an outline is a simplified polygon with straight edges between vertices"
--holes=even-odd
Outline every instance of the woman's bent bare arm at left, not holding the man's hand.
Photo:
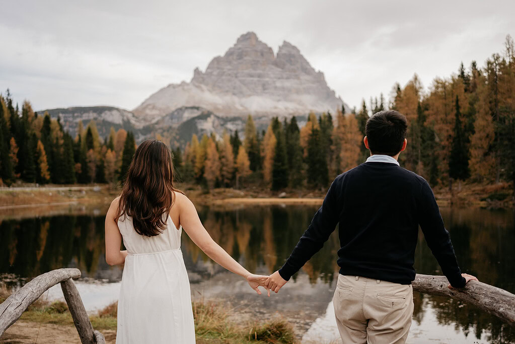
[[118,210],[118,198],[111,202],[111,207],[106,215],[106,262],[109,265],[118,265],[125,263],[127,251],[121,251],[122,233],[118,229],[118,223],[115,221],[116,212]]

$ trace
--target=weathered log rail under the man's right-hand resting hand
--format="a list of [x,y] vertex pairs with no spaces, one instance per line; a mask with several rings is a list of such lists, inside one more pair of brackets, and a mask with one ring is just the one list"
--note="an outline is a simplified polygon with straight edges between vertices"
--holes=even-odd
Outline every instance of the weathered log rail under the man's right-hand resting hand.
[[486,283],[470,281],[464,288],[449,289],[444,276],[418,274],[413,289],[425,294],[447,296],[476,306],[515,326],[515,295]]

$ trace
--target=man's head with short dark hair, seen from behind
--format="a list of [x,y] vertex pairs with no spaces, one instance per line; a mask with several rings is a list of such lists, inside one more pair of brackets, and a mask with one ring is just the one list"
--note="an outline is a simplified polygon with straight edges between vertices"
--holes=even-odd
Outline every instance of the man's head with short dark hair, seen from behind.
[[384,110],[372,115],[365,126],[370,152],[393,157],[401,151],[407,129],[406,116],[398,111]]

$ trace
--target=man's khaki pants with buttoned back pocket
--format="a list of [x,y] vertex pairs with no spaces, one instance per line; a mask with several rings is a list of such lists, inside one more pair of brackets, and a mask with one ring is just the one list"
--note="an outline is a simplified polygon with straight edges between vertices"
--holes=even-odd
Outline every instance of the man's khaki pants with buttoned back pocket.
[[333,304],[344,344],[406,341],[413,316],[410,284],[338,274]]

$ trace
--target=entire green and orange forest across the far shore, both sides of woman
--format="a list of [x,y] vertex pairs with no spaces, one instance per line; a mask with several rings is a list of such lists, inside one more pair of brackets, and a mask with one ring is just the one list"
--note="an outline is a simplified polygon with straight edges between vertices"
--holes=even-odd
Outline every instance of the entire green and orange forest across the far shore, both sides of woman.
[[[504,51],[492,54],[483,67],[461,63],[456,74],[435,78],[427,90],[415,74],[404,87],[394,84],[388,101],[383,94],[371,97],[368,106],[363,100],[352,113],[311,113],[302,126],[295,116],[275,117],[261,132],[249,115],[244,133],[193,135],[184,149],[170,147],[176,179],[198,183],[205,191],[326,188],[338,174],[366,160],[367,118],[385,109],[408,119],[401,166],[432,186],[452,190],[456,182],[460,187],[461,182],[515,180],[515,55],[509,35]],[[134,134],[124,129],[111,128],[102,138],[92,121],[85,127],[79,123],[72,137],[59,119],[38,114],[27,100],[20,110],[9,91],[0,95],[2,185],[18,180],[116,184],[135,148]]]

